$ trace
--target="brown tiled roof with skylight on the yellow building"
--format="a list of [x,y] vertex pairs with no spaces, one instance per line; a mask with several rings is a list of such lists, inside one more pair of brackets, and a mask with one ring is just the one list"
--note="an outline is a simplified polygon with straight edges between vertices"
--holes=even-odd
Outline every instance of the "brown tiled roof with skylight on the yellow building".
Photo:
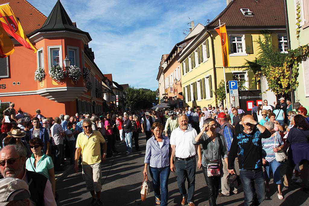
[[[244,16],[240,9],[249,9],[253,16]],[[206,27],[285,27],[284,4],[281,0],[233,0]]]

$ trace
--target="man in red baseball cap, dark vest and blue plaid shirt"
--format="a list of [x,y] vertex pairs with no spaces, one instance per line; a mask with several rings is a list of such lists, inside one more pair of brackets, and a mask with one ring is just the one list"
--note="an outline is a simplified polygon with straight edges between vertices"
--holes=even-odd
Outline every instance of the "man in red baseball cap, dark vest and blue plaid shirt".
[[[222,134],[222,136],[224,137],[225,144],[226,144],[225,145],[226,150],[229,153],[231,149],[233,137],[234,135],[236,135],[235,128],[227,121],[227,117],[224,112],[219,113],[218,123],[220,124],[219,133]],[[223,168],[222,168],[223,176],[221,177],[221,192],[218,194],[218,196],[226,197],[226,196],[231,195],[231,188],[230,188],[230,185],[227,183],[227,176],[229,174],[229,170],[227,168],[227,164],[225,163],[223,159],[222,159],[222,165],[223,165]],[[233,193],[237,194],[237,188],[234,188]]]

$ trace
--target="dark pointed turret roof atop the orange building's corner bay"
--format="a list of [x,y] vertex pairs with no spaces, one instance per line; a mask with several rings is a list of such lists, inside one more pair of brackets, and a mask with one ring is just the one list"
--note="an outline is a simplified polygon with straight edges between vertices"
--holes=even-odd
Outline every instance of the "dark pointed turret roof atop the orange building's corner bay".
[[85,34],[90,41],[92,40],[88,32],[84,32],[73,25],[69,15],[66,13],[66,10],[62,6],[60,0],[58,0],[55,6],[53,7],[53,10],[47,17],[44,25],[40,29],[37,29],[36,32],[60,31],[60,30]]

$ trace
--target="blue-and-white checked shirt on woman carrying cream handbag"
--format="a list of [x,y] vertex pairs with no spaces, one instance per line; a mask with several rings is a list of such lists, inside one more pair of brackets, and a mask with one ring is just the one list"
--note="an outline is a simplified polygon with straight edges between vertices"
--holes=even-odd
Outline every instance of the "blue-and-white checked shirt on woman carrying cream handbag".
[[155,136],[150,137],[147,141],[144,163],[150,164],[151,167],[162,168],[170,165],[170,139],[164,135],[162,135],[162,139],[162,148],[160,148]]

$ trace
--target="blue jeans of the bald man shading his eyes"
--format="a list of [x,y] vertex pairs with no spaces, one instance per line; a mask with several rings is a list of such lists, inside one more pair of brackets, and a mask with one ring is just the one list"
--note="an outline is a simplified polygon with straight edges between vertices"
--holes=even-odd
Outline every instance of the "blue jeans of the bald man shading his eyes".
[[[258,170],[240,170],[240,179],[243,185],[244,205],[261,204],[265,199],[265,184],[262,168]],[[254,192],[256,193],[256,197]]]

